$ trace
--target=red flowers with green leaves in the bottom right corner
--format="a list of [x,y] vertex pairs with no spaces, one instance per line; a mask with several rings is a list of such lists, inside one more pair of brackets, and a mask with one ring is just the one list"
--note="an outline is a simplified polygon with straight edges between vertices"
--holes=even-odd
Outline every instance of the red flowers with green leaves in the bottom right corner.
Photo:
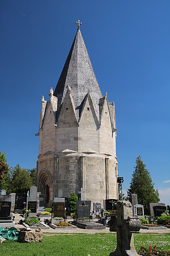
[[167,255],[170,255],[169,251],[162,251],[162,249],[157,245],[154,245],[154,246],[150,245],[148,249],[141,245],[141,250],[138,251],[138,254],[139,255],[145,255],[145,256],[148,256],[148,255],[150,255],[150,256],[154,256],[154,255],[167,256]]

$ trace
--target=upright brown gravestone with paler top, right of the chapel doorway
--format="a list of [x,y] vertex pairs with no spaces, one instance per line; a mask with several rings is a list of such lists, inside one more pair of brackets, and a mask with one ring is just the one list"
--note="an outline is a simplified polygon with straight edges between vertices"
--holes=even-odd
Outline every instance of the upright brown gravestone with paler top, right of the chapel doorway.
[[54,207],[53,207],[54,217],[65,217],[65,198],[54,197]]

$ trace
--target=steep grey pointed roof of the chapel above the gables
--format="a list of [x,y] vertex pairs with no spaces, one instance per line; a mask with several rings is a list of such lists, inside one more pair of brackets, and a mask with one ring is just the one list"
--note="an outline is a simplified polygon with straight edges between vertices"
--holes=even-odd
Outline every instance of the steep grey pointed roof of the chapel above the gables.
[[67,86],[71,88],[75,108],[79,113],[84,97],[90,92],[99,117],[99,99],[103,96],[79,28],[54,91],[54,96],[58,97],[58,109],[65,98]]

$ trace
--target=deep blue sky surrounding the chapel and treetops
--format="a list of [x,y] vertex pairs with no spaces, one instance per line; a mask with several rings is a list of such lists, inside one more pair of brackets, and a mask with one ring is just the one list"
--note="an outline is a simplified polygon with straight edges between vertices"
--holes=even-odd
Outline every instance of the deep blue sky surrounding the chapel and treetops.
[[0,1],[0,150],[36,167],[41,97],[56,88],[81,32],[103,95],[116,105],[118,173],[129,188],[141,155],[170,204],[170,1]]

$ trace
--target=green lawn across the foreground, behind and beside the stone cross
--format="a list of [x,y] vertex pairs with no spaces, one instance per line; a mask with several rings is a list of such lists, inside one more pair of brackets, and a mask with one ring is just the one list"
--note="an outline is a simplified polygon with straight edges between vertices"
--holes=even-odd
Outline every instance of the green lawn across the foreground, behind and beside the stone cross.
[[[159,245],[163,250],[170,250],[170,234],[135,234],[135,248]],[[5,241],[0,244],[1,256],[33,255],[109,255],[116,249],[116,234],[57,234],[44,236],[40,243],[19,243]]]

